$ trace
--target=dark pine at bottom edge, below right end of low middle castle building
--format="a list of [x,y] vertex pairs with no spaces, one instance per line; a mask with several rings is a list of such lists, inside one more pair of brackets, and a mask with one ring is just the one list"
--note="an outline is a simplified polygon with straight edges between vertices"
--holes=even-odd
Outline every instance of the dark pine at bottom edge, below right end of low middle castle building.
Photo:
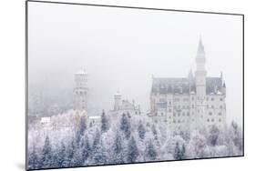
[[128,163],[136,162],[138,157],[138,146],[133,136],[128,141]]

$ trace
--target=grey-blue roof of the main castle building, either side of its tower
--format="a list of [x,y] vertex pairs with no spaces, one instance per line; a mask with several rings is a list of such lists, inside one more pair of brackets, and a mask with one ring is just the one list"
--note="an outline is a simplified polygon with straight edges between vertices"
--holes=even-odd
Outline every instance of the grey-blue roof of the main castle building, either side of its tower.
[[[206,77],[206,94],[221,92],[222,80],[220,77]],[[195,77],[154,77],[151,93],[159,94],[190,94],[196,92]]]

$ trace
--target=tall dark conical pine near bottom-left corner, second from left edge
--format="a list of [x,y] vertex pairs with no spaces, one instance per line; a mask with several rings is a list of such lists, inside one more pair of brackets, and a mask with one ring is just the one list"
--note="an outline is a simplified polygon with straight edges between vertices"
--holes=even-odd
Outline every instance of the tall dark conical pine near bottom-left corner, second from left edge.
[[50,144],[50,139],[46,136],[45,145],[43,146],[41,160],[40,160],[40,168],[49,168],[53,165],[52,159],[52,147]]

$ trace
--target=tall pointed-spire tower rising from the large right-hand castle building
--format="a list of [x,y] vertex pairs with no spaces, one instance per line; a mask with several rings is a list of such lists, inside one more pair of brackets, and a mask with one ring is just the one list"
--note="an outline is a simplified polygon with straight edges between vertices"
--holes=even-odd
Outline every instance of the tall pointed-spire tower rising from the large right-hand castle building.
[[205,114],[205,96],[206,96],[206,69],[205,69],[205,52],[201,39],[198,47],[198,53],[196,55],[196,106],[197,106],[197,125],[200,126],[204,120]]

